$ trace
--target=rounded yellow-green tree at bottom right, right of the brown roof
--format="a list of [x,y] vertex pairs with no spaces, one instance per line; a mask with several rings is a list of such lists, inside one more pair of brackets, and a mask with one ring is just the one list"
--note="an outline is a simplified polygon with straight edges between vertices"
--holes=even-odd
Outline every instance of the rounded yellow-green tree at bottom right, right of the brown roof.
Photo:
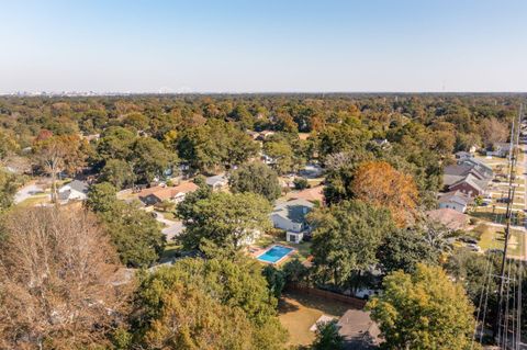
[[395,271],[384,292],[368,303],[386,349],[469,349],[473,307],[461,285],[438,267],[417,264],[406,274]]

